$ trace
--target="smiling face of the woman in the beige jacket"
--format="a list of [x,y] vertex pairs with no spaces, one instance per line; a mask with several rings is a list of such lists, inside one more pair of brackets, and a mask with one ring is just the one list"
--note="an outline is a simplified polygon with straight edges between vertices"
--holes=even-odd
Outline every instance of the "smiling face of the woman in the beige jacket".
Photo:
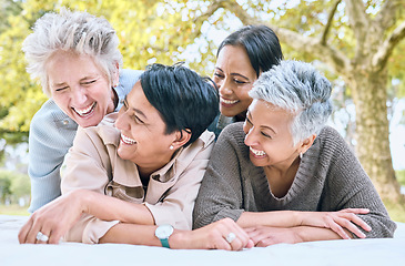
[[115,127],[121,131],[118,155],[135,163],[143,173],[163,167],[178,149],[173,145],[178,131],[165,134],[166,125],[153,108],[138,81],[119,112]]

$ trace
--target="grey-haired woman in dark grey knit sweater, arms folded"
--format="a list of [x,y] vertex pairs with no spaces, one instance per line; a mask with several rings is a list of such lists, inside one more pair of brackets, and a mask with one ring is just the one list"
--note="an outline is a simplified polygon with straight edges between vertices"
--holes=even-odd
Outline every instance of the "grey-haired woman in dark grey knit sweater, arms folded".
[[298,61],[283,61],[257,79],[245,122],[226,126],[213,150],[194,228],[230,217],[256,246],[393,237],[396,225],[367,174],[325,125],[331,90]]

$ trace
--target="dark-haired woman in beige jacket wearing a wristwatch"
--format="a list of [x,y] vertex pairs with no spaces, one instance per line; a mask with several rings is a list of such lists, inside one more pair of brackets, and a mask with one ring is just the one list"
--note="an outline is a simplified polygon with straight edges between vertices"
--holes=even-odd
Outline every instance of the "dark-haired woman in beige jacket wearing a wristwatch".
[[217,113],[217,98],[184,66],[150,66],[119,113],[79,129],[61,171],[62,196],[31,215],[20,243],[54,244],[64,236],[91,244],[250,247],[247,234],[231,219],[191,232],[214,144],[205,129]]

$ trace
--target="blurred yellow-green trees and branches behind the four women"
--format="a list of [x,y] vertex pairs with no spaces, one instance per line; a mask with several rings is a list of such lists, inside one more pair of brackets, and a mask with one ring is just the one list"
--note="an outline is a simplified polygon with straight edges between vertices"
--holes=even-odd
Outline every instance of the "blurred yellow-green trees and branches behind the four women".
[[249,23],[270,25],[286,59],[314,62],[333,81],[333,122],[382,197],[403,201],[389,123],[405,124],[404,113],[394,117],[405,95],[405,0],[0,0],[3,164],[6,147],[27,142],[31,117],[47,100],[26,73],[21,42],[38,18],[62,6],[107,18],[121,40],[123,66],[130,69],[185,61],[211,75],[216,48],[230,32]]

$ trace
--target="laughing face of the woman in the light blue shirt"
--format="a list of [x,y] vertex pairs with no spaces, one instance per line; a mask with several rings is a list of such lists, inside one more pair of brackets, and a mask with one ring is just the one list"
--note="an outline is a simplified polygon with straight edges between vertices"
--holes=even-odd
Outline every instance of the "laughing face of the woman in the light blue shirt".
[[58,51],[47,72],[53,101],[80,126],[98,125],[114,111],[112,84],[91,57]]

